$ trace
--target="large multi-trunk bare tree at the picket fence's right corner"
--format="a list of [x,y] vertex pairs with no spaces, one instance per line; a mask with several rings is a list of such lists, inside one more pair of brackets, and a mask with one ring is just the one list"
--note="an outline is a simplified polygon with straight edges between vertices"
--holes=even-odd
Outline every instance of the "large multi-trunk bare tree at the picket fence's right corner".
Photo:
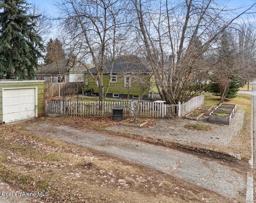
[[158,0],[152,4],[148,0],[132,0],[132,3],[135,16],[131,26],[137,33],[138,49],[144,51],[158,91],[167,103],[186,102],[204,90],[206,86],[194,87],[202,79],[210,78],[212,64],[205,59],[214,52],[216,41],[226,28],[234,28],[235,21],[256,5],[226,19],[226,14],[235,10],[220,8],[213,0],[176,3]]

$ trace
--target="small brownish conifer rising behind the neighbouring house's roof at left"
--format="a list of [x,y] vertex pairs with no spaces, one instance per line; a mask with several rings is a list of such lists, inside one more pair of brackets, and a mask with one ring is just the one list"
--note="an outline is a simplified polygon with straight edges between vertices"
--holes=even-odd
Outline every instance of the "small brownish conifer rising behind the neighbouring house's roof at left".
[[44,63],[46,65],[51,63],[61,63],[66,58],[66,54],[62,48],[62,44],[58,39],[52,40],[51,38],[47,43],[46,50],[47,53],[44,58]]

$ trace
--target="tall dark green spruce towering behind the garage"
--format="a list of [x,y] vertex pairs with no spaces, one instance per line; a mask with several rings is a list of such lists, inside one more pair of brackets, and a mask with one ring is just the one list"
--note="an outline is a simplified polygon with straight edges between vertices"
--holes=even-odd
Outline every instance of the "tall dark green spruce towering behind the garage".
[[0,0],[0,78],[33,79],[42,57],[42,38],[25,0]]

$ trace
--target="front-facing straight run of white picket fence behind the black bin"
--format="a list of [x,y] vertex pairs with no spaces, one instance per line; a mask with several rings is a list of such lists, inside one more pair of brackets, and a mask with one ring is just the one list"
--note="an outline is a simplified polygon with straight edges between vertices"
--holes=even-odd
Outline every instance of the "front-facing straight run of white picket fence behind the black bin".
[[[46,115],[74,115],[74,116],[112,116],[113,107],[123,107],[124,117],[133,116],[134,102],[45,102]],[[130,108],[129,108],[130,107]],[[142,102],[138,105],[138,117],[160,118],[166,117],[166,104]]]

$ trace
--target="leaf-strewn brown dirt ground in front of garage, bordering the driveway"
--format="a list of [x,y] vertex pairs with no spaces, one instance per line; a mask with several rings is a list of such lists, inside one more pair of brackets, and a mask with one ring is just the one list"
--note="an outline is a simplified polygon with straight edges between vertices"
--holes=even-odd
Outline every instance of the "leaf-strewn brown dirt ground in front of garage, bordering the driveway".
[[[154,120],[149,121],[148,125],[154,124]],[[17,192],[36,193],[35,197],[26,197],[29,202],[234,202],[129,160],[25,129],[37,122],[56,126],[66,123],[90,132],[116,124],[108,118],[61,117],[1,126],[0,179]],[[220,161],[241,173],[243,166]],[[20,202],[20,197],[16,198]],[[0,195],[0,202],[7,200]]]

